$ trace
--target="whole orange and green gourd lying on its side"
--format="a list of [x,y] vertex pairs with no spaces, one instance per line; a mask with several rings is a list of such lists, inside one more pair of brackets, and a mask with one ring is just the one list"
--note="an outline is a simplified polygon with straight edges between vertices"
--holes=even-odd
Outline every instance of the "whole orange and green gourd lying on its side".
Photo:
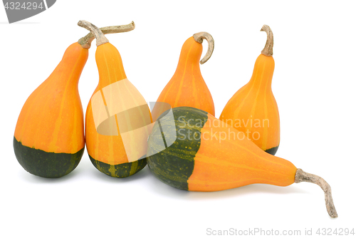
[[188,191],[313,182],[324,190],[330,216],[337,217],[325,180],[264,152],[241,131],[197,108],[172,108],[159,116],[148,140],[147,163],[159,180]]

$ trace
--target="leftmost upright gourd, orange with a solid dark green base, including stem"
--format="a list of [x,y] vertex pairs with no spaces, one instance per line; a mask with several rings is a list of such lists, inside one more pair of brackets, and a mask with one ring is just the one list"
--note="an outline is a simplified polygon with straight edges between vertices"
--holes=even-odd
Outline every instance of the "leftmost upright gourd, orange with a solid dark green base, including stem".
[[[132,24],[109,26],[103,31],[122,32]],[[33,175],[62,177],[80,162],[84,151],[84,120],[78,81],[91,41],[93,34],[89,33],[71,44],[51,76],[31,93],[21,109],[14,151],[20,165]]]

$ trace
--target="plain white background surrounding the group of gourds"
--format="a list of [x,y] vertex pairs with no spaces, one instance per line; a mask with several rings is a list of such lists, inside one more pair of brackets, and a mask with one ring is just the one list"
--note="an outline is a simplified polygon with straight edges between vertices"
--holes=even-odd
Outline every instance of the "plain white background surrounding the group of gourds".
[[[337,3],[336,3],[337,2]],[[69,1],[8,24],[0,7],[0,237],[212,237],[206,229],[356,228],[356,15],[352,1]],[[323,191],[309,183],[249,185],[187,192],[157,180],[148,167],[124,179],[104,175],[85,151],[59,179],[29,174],[13,149],[16,121],[28,95],[56,68],[87,20],[136,29],[108,35],[127,78],[155,101],[172,77],[184,41],[199,31],[215,50],[201,66],[216,116],[251,78],[273,30],[273,93],[281,115],[276,155],[320,175],[333,189],[339,217],[330,219]],[[204,42],[203,55],[206,52]],[[79,81],[85,110],[98,83],[95,43]],[[356,232],[356,231],[355,231]],[[5,235],[5,236],[4,236]],[[301,236],[300,236],[301,237]],[[332,236],[328,236],[332,237]]]

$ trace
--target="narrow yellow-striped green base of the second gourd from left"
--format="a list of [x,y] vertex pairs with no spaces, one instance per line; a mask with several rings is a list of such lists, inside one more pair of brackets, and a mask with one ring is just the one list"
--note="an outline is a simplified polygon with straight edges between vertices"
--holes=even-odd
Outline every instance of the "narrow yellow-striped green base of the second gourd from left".
[[139,172],[147,165],[145,157],[141,157],[135,162],[124,162],[120,165],[109,165],[105,162],[95,160],[90,155],[89,157],[90,161],[100,172],[111,177],[128,177],[130,175],[135,175],[135,173]]

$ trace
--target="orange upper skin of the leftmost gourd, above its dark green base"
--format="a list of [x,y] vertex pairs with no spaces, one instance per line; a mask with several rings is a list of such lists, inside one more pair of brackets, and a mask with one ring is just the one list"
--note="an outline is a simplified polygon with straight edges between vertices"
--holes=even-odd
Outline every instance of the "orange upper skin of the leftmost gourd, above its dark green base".
[[14,136],[22,145],[69,154],[84,148],[78,81],[87,59],[88,49],[73,43],[51,76],[31,93],[15,129]]

